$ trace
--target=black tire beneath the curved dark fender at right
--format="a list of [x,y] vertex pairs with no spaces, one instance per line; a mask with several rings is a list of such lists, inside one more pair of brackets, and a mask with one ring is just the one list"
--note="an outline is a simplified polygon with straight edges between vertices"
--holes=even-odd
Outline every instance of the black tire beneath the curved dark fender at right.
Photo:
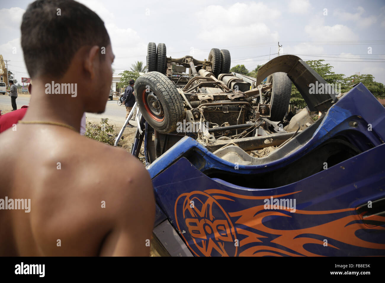
[[289,108],[291,95],[291,80],[286,73],[278,72],[269,75],[267,82],[272,82],[270,99],[270,120],[281,121]]

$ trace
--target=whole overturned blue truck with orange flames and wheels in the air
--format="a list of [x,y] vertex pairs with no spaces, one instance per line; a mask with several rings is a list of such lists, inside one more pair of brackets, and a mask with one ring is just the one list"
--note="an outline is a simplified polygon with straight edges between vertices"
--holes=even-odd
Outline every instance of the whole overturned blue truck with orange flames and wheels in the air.
[[[293,55],[229,74],[228,50],[173,59],[153,43],[147,66],[132,154],[144,145],[154,253],[385,255],[385,109],[363,84],[336,94]],[[317,121],[288,111],[291,84]]]

